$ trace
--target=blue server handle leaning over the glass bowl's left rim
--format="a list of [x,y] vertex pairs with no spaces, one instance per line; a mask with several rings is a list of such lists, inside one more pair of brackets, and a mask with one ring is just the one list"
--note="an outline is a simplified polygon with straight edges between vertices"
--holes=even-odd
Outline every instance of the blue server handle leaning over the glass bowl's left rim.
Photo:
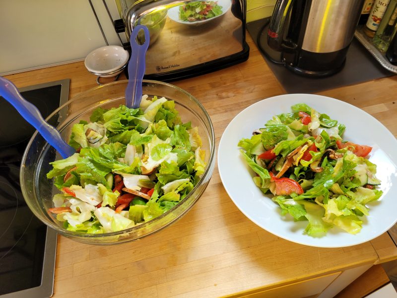
[[0,95],[12,104],[19,114],[21,114],[63,158],[69,157],[75,152],[75,150],[62,139],[60,133],[43,119],[37,107],[23,98],[11,81],[1,76]]

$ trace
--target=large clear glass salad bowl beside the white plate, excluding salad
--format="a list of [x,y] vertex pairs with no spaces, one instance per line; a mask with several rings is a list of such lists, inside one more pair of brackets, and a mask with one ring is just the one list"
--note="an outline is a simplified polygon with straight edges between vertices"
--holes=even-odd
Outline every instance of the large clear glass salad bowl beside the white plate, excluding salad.
[[[96,108],[109,109],[125,104],[124,92],[127,82],[127,80],[112,82],[82,92],[54,111],[46,120],[53,125],[56,124],[55,126],[64,140],[68,140],[73,124],[80,120],[89,121],[89,116]],[[129,229],[102,234],[70,231],[63,227],[62,222],[57,221],[55,215],[48,212],[49,208],[54,207],[54,194],[60,191],[53,185],[52,179],[47,179],[46,174],[52,168],[49,163],[60,159],[61,156],[36,132],[22,158],[20,182],[27,205],[44,224],[79,242],[89,244],[123,243],[152,234],[175,222],[186,214],[199,199],[211,178],[215,164],[214,130],[207,112],[191,94],[168,83],[144,80],[142,91],[143,94],[149,96],[164,96],[174,100],[181,120],[184,123],[191,121],[192,127],[199,128],[202,149],[206,151],[206,167],[200,181],[178,205],[149,222]]]

